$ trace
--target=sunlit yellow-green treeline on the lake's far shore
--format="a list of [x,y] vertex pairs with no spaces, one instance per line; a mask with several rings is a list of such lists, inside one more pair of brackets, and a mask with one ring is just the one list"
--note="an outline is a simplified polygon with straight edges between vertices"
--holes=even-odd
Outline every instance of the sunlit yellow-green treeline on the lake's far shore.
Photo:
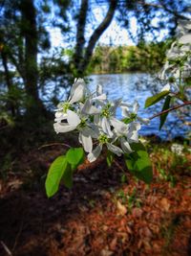
[[89,72],[123,73],[156,72],[162,66],[169,41],[138,46],[97,45],[89,64]]

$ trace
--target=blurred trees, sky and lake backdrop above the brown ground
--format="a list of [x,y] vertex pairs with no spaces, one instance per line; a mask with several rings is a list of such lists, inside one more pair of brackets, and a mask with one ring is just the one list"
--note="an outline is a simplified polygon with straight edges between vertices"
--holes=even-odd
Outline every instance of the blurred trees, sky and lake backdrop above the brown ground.
[[[53,119],[75,77],[91,88],[101,83],[111,99],[138,100],[142,116],[159,111],[160,105],[145,111],[144,102],[161,88],[153,76],[190,6],[187,0],[2,0],[0,13],[2,132],[22,122],[39,128]],[[185,136],[184,114],[170,114],[160,132],[155,119],[140,133]]]

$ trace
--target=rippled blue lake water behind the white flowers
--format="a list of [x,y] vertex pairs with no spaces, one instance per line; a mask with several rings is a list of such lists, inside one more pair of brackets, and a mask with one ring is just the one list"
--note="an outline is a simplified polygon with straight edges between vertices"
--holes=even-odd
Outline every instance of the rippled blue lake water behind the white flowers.
[[[110,100],[122,98],[126,103],[133,103],[137,100],[139,104],[138,115],[141,117],[149,118],[154,113],[159,112],[162,107],[159,103],[144,109],[145,100],[152,96],[151,89],[146,85],[148,83],[152,84],[152,78],[146,74],[104,74],[91,75],[88,78],[90,79],[90,89],[95,90],[96,85],[101,84]],[[141,135],[156,134],[161,139],[171,139],[176,136],[186,136],[188,129],[189,127],[184,126],[180,119],[177,118],[176,113],[171,112],[161,130],[159,130],[159,117],[157,117],[151,120],[150,125],[142,126],[139,133]]]

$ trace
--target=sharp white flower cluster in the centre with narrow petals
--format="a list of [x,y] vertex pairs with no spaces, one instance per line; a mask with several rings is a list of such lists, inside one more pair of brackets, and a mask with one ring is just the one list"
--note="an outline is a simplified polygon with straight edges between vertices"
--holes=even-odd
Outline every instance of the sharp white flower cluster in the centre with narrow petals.
[[[116,117],[117,108],[122,120]],[[101,85],[92,93],[82,79],[75,79],[69,100],[58,105],[54,121],[57,133],[78,132],[90,162],[96,160],[104,146],[118,156],[131,152],[131,143],[138,142],[140,124],[149,123],[148,119],[138,117],[138,102],[133,105],[121,99],[110,102]]]

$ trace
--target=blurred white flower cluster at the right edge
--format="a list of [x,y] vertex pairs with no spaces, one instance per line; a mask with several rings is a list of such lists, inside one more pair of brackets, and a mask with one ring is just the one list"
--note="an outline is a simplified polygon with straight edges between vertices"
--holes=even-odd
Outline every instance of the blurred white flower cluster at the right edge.
[[166,90],[179,92],[184,81],[191,77],[191,20],[180,21],[177,40],[172,43],[166,57],[159,78],[168,82]]

